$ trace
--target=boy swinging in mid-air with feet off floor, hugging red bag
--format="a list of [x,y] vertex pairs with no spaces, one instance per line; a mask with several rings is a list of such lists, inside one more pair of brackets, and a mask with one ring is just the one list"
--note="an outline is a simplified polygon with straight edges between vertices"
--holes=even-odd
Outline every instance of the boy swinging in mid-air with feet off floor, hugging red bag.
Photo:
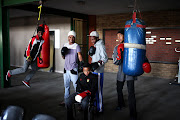
[[24,54],[24,66],[22,68],[17,68],[14,70],[8,70],[6,75],[6,80],[8,81],[12,75],[24,73],[27,71],[29,65],[31,65],[31,71],[30,73],[25,77],[25,79],[22,81],[24,85],[30,88],[29,81],[34,76],[36,71],[38,70],[37,67],[37,57],[40,55],[42,45],[44,43],[44,39],[42,37],[44,33],[44,28],[39,26],[37,29],[37,35],[32,37],[32,39],[29,41],[29,44],[25,50]]

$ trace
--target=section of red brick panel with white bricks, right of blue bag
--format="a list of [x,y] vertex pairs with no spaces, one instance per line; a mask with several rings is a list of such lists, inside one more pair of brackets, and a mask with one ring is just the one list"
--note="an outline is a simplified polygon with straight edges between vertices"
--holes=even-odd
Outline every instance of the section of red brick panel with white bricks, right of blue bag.
[[146,54],[150,61],[177,63],[180,53],[175,48],[180,47],[179,29],[148,29],[146,34]]

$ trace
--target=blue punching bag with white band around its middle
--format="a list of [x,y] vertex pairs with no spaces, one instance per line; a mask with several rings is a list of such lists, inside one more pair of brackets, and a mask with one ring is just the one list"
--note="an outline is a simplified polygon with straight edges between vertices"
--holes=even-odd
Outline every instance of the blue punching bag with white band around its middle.
[[126,22],[124,32],[123,72],[130,76],[142,75],[146,55],[146,31],[144,21],[136,18],[136,12],[133,19]]

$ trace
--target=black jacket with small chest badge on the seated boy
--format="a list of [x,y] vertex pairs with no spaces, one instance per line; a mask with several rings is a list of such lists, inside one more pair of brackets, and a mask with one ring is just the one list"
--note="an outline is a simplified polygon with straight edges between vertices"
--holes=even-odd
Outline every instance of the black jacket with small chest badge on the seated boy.
[[76,81],[76,84],[76,92],[81,93],[85,90],[89,90],[91,92],[91,96],[94,97],[96,91],[98,90],[98,76],[92,73],[89,73],[89,75],[86,76],[82,73]]

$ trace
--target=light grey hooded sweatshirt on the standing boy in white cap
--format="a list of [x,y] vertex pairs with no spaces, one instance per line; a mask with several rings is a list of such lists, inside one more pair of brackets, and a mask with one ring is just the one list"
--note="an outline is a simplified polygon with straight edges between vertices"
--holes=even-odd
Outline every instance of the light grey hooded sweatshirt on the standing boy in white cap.
[[92,58],[91,63],[98,62],[99,60],[103,61],[103,65],[98,67],[94,72],[103,73],[104,64],[108,61],[106,48],[105,48],[103,40],[98,40],[96,44],[94,44],[94,47],[96,47],[96,52],[93,56],[91,56]]

